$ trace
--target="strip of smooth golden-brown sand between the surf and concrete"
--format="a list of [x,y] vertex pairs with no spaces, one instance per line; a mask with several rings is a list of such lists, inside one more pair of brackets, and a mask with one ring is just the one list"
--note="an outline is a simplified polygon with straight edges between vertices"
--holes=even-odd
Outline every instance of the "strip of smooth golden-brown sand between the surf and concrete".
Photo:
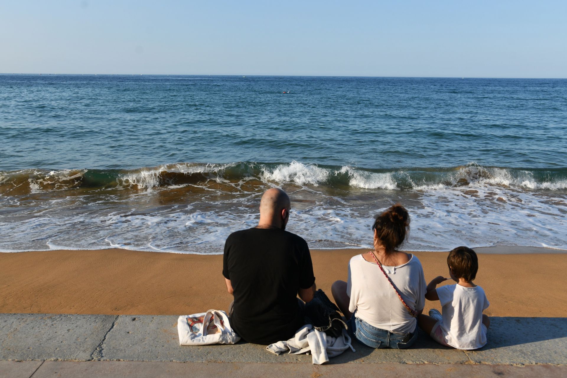
[[[507,249],[509,250],[509,247]],[[479,253],[489,316],[564,317],[567,254]],[[541,249],[534,249],[534,252]],[[330,296],[361,250],[312,250],[316,284]],[[447,276],[446,253],[417,252],[425,279]],[[222,255],[122,249],[0,254],[0,312],[66,314],[191,314],[226,309],[231,296],[221,275]],[[438,303],[427,302],[425,310]]]

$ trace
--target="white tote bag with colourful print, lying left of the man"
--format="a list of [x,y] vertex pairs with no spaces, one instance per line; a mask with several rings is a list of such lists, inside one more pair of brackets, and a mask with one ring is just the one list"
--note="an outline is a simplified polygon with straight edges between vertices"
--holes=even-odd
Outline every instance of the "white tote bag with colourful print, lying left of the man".
[[240,341],[222,310],[181,315],[177,320],[179,345],[234,344]]

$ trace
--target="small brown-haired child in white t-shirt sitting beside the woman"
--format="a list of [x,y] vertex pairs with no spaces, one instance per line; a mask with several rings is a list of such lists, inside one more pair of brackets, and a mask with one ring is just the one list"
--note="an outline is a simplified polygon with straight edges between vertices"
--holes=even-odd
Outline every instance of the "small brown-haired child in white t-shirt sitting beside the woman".
[[418,317],[418,324],[441,345],[458,349],[483,347],[490,320],[483,314],[488,308],[484,290],[472,282],[479,269],[476,253],[468,247],[456,247],[449,252],[447,265],[457,283],[436,289],[439,283],[448,280],[438,276],[427,285],[425,293],[426,299],[441,302],[443,314],[432,309],[429,316]]

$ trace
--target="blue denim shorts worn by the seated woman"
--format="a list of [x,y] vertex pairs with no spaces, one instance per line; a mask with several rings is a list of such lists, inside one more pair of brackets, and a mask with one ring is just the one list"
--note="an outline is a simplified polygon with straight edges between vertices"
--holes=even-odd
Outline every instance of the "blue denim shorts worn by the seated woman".
[[348,326],[352,337],[371,348],[403,349],[412,346],[417,339],[417,329],[400,335],[371,326],[354,314],[348,321]]

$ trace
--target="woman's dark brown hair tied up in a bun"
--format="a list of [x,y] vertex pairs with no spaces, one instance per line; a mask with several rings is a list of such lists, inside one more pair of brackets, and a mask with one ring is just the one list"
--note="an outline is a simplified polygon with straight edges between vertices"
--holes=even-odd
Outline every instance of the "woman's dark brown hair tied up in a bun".
[[409,233],[408,211],[399,203],[376,215],[372,229],[386,252],[395,250]]

